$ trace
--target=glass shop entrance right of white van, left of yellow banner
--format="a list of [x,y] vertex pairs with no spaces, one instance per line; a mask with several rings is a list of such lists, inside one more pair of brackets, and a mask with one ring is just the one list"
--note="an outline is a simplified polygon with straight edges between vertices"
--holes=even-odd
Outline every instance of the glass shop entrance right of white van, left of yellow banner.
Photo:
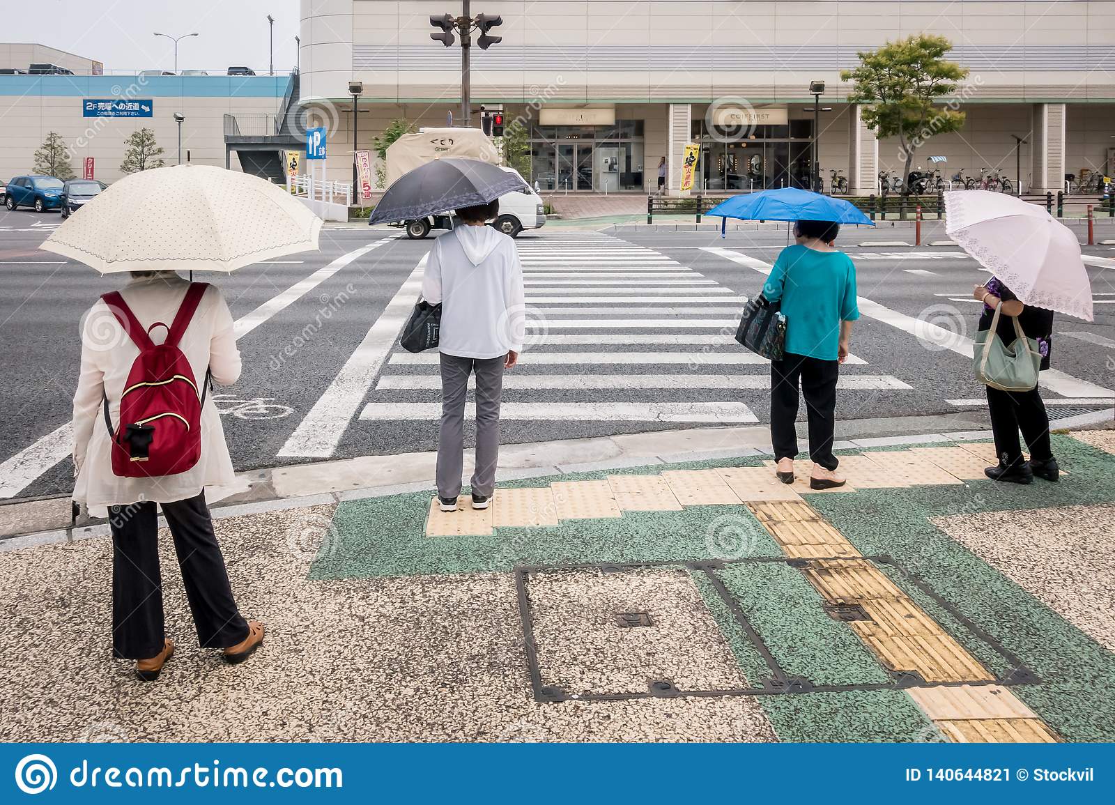
[[543,191],[642,192],[643,122],[531,130],[531,183]]

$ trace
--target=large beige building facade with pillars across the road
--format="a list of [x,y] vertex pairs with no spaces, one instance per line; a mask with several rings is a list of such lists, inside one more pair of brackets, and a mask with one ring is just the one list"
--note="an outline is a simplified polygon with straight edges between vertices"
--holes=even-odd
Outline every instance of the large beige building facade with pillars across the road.
[[[360,149],[394,118],[444,126],[452,113],[459,125],[460,49],[429,38],[430,14],[459,14],[459,2],[301,8],[301,100],[330,127],[334,178],[350,172],[351,80],[363,84]],[[879,172],[903,159],[862,124],[840,70],[857,51],[923,31],[948,37],[970,75],[956,98],[964,129],[929,138],[915,166],[943,156],[950,176],[997,169],[1035,192],[1082,169],[1115,171],[1115,2],[473,0],[472,12],[503,18],[493,30],[503,41],[472,49],[474,108],[501,107],[529,127],[532,180],[546,191],[646,193],[662,157],[676,190],[689,142],[702,145],[698,190],[802,183],[809,84],[823,80],[820,173],[841,171],[852,192],[873,192]],[[725,137],[716,124],[726,107],[770,123]]]

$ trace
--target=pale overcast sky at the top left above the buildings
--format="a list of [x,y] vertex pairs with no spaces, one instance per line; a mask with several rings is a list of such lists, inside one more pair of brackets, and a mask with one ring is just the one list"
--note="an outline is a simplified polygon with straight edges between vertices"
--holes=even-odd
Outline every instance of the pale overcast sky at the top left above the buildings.
[[275,72],[294,67],[299,0],[12,0],[0,41],[38,42],[105,64],[105,70],[172,69],[174,43],[154,32],[200,36],[178,43],[178,69],[268,70],[268,14]]

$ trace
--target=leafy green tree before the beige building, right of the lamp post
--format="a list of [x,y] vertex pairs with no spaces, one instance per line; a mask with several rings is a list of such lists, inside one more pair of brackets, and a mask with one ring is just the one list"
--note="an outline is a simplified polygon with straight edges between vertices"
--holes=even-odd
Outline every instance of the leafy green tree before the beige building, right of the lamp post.
[[879,137],[898,137],[899,158],[905,159],[903,186],[910,191],[910,165],[919,146],[934,134],[958,132],[964,113],[958,111],[956,98],[941,99],[957,90],[957,81],[968,70],[944,59],[952,49],[946,37],[919,33],[888,42],[874,51],[856,54],[860,66],[841,70],[841,78],[853,81],[850,104],[862,104],[863,122]]

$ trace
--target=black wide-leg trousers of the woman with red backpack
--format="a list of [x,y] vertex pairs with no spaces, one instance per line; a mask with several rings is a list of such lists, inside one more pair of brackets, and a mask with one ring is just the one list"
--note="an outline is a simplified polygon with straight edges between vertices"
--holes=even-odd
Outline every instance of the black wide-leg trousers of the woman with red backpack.
[[[110,506],[113,532],[113,652],[142,660],[163,650],[163,582],[154,503]],[[205,493],[159,504],[174,537],[186,599],[202,648],[223,649],[248,637],[213,534]]]

